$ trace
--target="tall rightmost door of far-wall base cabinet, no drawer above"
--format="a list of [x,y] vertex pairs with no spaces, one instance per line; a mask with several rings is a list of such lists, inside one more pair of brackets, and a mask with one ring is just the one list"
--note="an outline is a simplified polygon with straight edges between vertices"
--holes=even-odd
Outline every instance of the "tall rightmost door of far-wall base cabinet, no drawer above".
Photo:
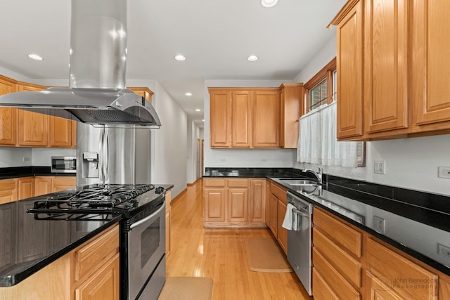
[[249,217],[251,223],[266,221],[266,180],[250,179]]

